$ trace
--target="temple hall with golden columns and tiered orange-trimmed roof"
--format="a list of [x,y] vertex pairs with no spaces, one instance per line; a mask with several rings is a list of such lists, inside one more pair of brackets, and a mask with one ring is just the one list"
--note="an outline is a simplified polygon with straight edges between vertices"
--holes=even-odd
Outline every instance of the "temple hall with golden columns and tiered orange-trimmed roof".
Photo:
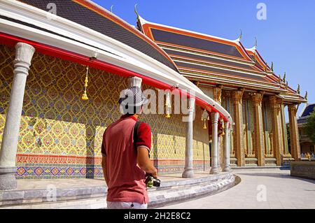
[[[269,67],[255,46],[148,22],[138,16],[139,29],[165,50],[184,77],[228,110],[234,120],[230,143],[232,166],[281,166],[300,159],[295,118],[306,102]],[[288,108],[291,148],[288,150],[284,108]],[[209,132],[211,135],[211,132]],[[219,157],[223,165],[223,141]]]

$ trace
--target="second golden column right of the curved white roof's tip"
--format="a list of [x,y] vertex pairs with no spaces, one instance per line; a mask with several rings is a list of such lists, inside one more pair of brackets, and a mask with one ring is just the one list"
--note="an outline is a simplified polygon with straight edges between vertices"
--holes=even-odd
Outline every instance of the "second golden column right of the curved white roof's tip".
[[265,140],[264,128],[262,123],[262,98],[263,93],[258,92],[252,96],[254,110],[254,150],[255,156],[258,159],[258,166],[265,166]]

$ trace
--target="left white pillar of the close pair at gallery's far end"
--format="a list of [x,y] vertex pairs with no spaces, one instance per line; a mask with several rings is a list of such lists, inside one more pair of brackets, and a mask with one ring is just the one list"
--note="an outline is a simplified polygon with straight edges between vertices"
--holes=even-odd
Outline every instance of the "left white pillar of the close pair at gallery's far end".
[[211,113],[212,121],[212,145],[211,145],[211,171],[210,174],[218,174],[218,113]]

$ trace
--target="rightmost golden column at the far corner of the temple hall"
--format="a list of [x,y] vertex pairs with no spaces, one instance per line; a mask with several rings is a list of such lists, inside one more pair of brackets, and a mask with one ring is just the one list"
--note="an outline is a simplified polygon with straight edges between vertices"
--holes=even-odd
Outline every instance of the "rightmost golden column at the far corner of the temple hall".
[[299,131],[297,128],[296,113],[297,113],[296,105],[294,104],[288,105],[291,156],[295,159],[295,161],[300,161],[301,149],[300,149]]

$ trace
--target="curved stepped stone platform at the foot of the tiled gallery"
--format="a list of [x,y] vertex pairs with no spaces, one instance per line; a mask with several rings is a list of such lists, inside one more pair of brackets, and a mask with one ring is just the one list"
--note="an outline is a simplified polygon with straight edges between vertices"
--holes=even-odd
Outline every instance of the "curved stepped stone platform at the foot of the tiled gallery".
[[[222,192],[235,185],[233,173],[160,175],[161,187],[148,189],[149,208],[188,201]],[[102,179],[18,180],[18,188],[0,191],[0,208],[106,208],[106,184]]]

